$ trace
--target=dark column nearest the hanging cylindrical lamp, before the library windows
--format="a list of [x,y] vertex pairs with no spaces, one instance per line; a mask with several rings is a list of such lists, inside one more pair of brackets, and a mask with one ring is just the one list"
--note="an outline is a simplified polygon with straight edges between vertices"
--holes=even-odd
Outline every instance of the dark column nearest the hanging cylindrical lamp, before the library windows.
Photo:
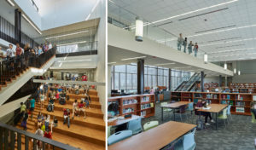
[[137,94],[144,93],[144,60],[137,60]]

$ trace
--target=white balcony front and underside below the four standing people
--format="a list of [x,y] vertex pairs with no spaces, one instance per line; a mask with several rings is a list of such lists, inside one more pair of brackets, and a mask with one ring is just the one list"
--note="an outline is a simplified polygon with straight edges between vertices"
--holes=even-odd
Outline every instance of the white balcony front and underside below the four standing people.
[[[136,59],[132,59],[134,57]],[[203,60],[148,38],[143,38],[143,42],[139,43],[135,41],[133,32],[108,24],[108,63],[110,65],[129,64],[137,62],[137,58],[140,57],[145,59],[146,65],[158,65],[189,72],[208,71],[214,75],[233,76],[233,72],[225,71],[221,66],[212,63],[205,64]],[[124,59],[127,61],[122,61]]]

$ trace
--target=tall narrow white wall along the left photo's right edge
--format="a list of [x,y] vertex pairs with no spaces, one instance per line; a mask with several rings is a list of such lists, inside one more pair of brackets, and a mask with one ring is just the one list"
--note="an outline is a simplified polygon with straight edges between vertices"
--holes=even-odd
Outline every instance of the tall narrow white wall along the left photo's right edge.
[[[96,32],[96,41],[98,41],[98,64],[96,67],[95,79],[96,82],[106,83],[106,1],[100,0],[98,5],[101,10],[101,20]],[[104,119],[106,121],[106,86],[97,86],[98,95],[102,104],[102,113],[104,113]]]

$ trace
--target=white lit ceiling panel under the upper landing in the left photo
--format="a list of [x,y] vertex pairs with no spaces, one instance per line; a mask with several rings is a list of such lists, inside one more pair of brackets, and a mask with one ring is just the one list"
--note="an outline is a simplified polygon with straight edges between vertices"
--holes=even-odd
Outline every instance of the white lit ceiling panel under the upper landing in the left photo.
[[80,70],[95,69],[97,66],[98,55],[81,55],[70,57],[58,57],[50,70]]

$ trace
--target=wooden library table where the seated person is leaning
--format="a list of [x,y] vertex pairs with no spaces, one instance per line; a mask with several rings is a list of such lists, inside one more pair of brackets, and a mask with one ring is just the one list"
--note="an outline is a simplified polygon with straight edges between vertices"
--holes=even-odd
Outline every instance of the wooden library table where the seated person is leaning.
[[[217,116],[218,113],[223,111],[224,108],[228,107],[227,104],[210,104],[208,107],[211,107],[210,109],[197,109],[198,112],[208,112],[208,113],[215,113],[215,119],[216,119],[216,130],[218,128],[218,120]],[[212,116],[213,117],[213,116]]]

